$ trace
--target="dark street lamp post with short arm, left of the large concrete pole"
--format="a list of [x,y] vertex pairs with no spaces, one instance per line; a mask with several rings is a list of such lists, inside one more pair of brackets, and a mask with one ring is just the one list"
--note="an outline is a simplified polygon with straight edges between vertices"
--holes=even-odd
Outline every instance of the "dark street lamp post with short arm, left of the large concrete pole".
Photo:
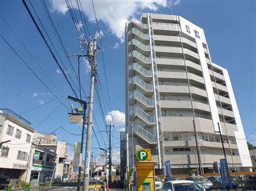
[[[79,60],[79,58],[78,58]],[[83,100],[79,100],[76,97],[71,97],[68,96],[69,100],[72,100],[74,102],[78,102],[81,105],[83,105],[83,112],[82,113],[77,113],[74,114],[73,113],[73,105],[71,105],[71,110],[72,113],[69,113],[71,115],[83,115],[83,127],[82,127],[82,138],[81,138],[81,148],[80,148],[80,157],[79,157],[79,172],[78,172],[78,186],[77,186],[77,191],[80,190],[80,186],[81,186],[81,169],[82,169],[82,158],[83,158],[83,145],[84,145],[84,129],[85,129],[85,124],[86,124],[86,108],[87,108],[87,102],[83,101]]]

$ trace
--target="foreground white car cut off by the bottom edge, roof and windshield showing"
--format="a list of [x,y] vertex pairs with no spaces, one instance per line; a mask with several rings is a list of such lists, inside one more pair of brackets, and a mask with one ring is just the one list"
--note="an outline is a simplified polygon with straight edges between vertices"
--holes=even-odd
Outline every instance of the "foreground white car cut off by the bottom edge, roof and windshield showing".
[[205,191],[204,188],[190,180],[172,180],[165,182],[161,191]]

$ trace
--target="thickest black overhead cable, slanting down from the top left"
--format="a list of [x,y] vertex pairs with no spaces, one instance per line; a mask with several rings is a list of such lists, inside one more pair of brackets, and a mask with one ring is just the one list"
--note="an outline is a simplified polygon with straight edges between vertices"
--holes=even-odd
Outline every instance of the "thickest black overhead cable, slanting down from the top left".
[[[59,65],[59,62],[58,62],[58,60],[57,60],[55,54],[52,52],[52,49],[51,49],[50,45],[48,44],[48,42],[46,41],[46,39],[45,39],[45,37],[44,37],[44,35],[43,35],[41,29],[39,29],[39,26],[38,26],[38,24],[36,23],[36,20],[35,20],[35,18],[33,17],[33,15],[32,15],[32,13],[31,13],[31,11],[30,11],[28,5],[26,4],[25,0],[22,0],[22,2],[23,2],[23,4],[24,4],[26,10],[28,11],[28,13],[29,13],[29,15],[30,15],[30,17],[31,17],[31,19],[32,19],[32,21],[33,21],[33,23],[35,24],[35,26],[36,26],[38,32],[40,33],[41,37],[43,38],[44,43],[45,43],[46,46],[48,47],[48,49],[49,49],[49,51],[50,51],[50,53],[51,53],[53,59],[54,59],[55,62],[57,63],[59,69],[62,71],[62,74],[64,75],[66,81],[68,82],[70,88],[72,89],[73,93],[74,93],[74,94],[76,95],[76,97],[77,97],[76,91],[73,89],[73,87],[72,87],[72,85],[71,85],[71,83],[70,83],[68,77],[66,76],[64,70],[63,70],[62,67]],[[78,98],[78,97],[77,97],[77,98]]]

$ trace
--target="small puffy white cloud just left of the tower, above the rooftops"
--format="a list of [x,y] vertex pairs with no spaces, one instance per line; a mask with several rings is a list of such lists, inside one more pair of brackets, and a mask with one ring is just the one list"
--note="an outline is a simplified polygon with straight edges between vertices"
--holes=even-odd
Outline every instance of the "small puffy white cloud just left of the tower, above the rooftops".
[[108,112],[105,116],[107,124],[114,125],[116,127],[125,125],[125,114],[118,110]]

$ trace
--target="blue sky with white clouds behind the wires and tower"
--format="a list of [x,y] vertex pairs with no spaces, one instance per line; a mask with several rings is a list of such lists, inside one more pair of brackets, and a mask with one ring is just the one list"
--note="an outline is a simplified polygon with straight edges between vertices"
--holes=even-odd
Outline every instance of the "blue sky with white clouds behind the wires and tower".
[[[27,1],[29,4],[29,1]],[[82,53],[79,49],[78,36],[72,23],[70,14],[65,8],[65,1],[45,1],[50,15],[62,38],[63,44],[69,54]],[[75,1],[76,2],[76,1]],[[74,2],[74,6],[75,6]],[[81,1],[85,12],[85,18],[89,31],[95,34],[97,31],[95,16],[91,1]],[[119,130],[124,128],[125,112],[125,48],[124,48],[124,23],[131,16],[140,18],[141,12],[171,13],[169,5],[164,0],[156,1],[93,1],[99,22],[99,29],[103,32],[102,43],[105,60],[106,79],[109,87],[109,95],[114,101],[107,107],[109,101],[106,92],[102,88],[102,94],[106,99],[102,100],[103,114],[95,102],[95,118],[100,130],[105,130],[103,118],[108,112],[113,112],[116,128],[114,130],[113,150],[117,158],[119,152]],[[60,58],[67,68],[68,75],[75,76],[65,58],[50,22],[45,15],[43,4],[40,1],[31,1],[35,10],[41,18],[42,23],[53,44],[55,44]],[[169,2],[168,2],[169,3]],[[233,90],[237,99],[242,123],[248,141],[256,145],[255,140],[255,1],[173,1],[172,10],[174,15],[180,15],[194,24],[202,27],[206,34],[211,58],[214,63],[227,68],[231,77]],[[29,4],[31,8],[31,5]],[[77,7],[77,6],[76,6]],[[39,36],[35,25],[32,23],[28,12],[26,12],[21,1],[1,1],[1,15],[15,31],[18,38],[28,48],[33,58],[43,68],[58,90],[51,84],[42,73],[35,61],[26,52],[9,27],[1,20],[1,35],[8,43],[16,49],[17,53],[28,63],[35,73],[45,84],[60,97],[69,107],[71,103],[66,97],[75,96],[62,74],[57,71],[58,66],[46,48],[42,38]],[[32,9],[32,8],[31,8]],[[79,14],[77,9],[76,13]],[[33,13],[33,15],[35,15]],[[58,100],[46,89],[41,82],[25,67],[22,61],[11,51],[1,39],[1,66],[0,66],[0,108],[9,108],[17,114],[22,114],[32,108],[41,107],[22,114],[24,118],[32,123],[39,132],[52,132],[59,126],[66,130],[79,134],[80,129],[68,121],[68,110],[60,105]],[[77,72],[77,58],[71,58],[72,66]],[[97,55],[99,65],[98,91],[100,87],[106,89],[104,65],[102,53]],[[81,65],[82,85],[86,96],[89,95],[90,75],[87,72],[85,62]],[[68,76],[69,77],[69,76]],[[75,81],[76,82],[76,81]],[[71,82],[72,83],[72,82]],[[73,85],[75,86],[75,85]],[[76,83],[78,87],[78,84]],[[78,91],[77,91],[78,93]],[[96,98],[97,99],[97,98]],[[52,101],[53,100],[53,101]],[[52,101],[48,104],[45,104]],[[45,105],[44,105],[45,104]],[[77,105],[75,105],[76,107]],[[58,108],[57,108],[58,107]],[[57,109],[56,109],[57,108]],[[49,118],[42,122],[53,110]],[[110,116],[109,116],[110,117]],[[41,123],[38,125],[39,123]],[[38,125],[38,126],[37,126]],[[96,132],[99,135],[99,129]],[[254,131],[254,132],[253,132]],[[80,141],[80,136],[73,136],[64,130],[58,130],[58,140],[66,140],[69,143]],[[251,135],[250,135],[251,134]],[[102,132],[99,138],[100,144],[107,143],[106,133]],[[104,143],[105,142],[105,143]],[[95,136],[92,138],[92,152],[98,155],[100,151]],[[70,151],[72,152],[72,147]]]

